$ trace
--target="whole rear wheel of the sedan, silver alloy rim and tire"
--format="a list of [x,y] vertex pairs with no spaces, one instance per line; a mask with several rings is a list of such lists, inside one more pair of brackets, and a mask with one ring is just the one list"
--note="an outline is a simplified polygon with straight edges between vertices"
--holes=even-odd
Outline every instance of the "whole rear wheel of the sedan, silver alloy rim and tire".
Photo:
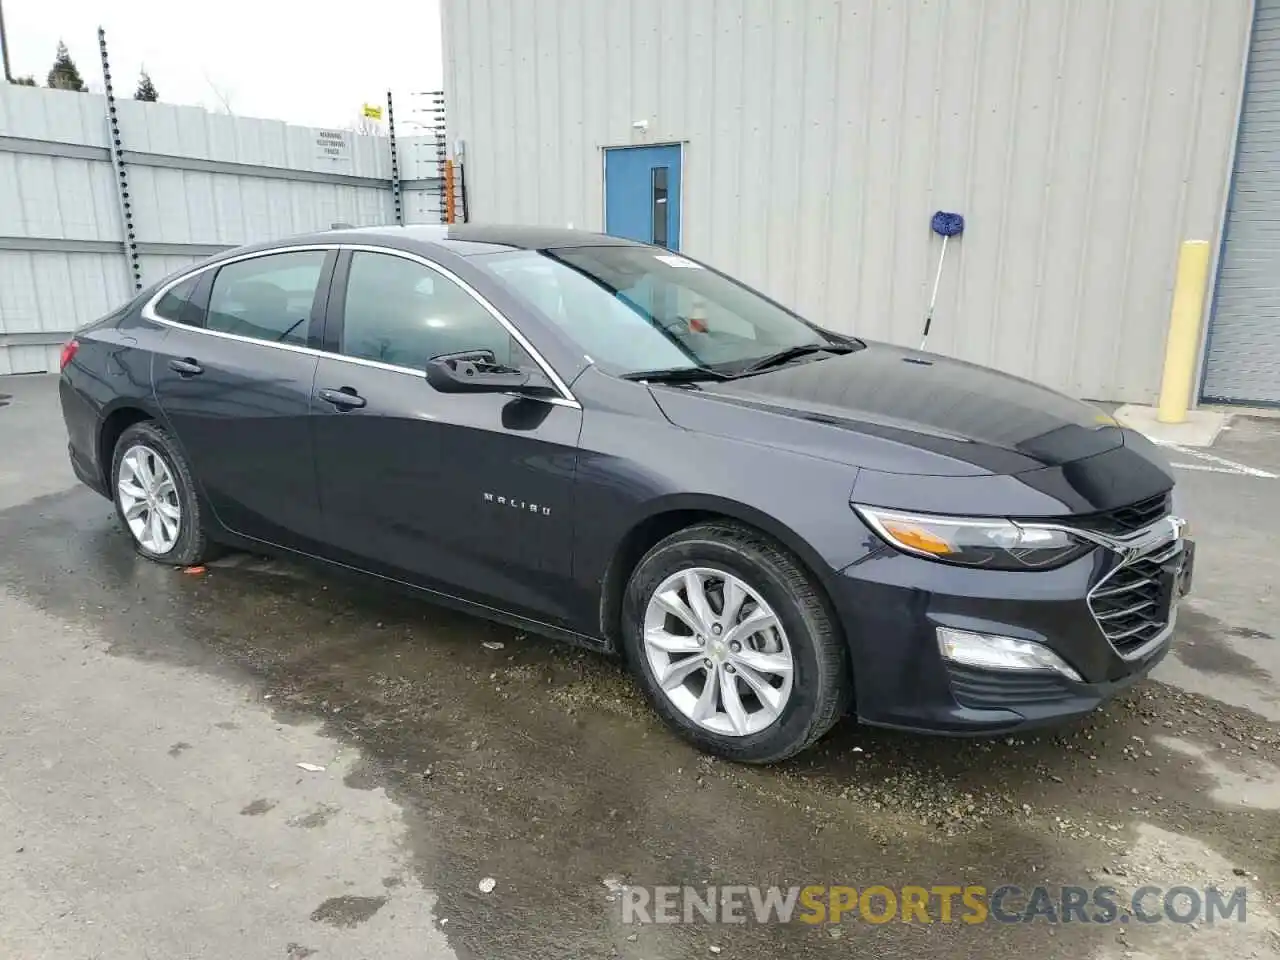
[[115,511],[147,559],[189,566],[205,558],[200,502],[191,470],[168,433],[145,420],[116,440],[111,457]]

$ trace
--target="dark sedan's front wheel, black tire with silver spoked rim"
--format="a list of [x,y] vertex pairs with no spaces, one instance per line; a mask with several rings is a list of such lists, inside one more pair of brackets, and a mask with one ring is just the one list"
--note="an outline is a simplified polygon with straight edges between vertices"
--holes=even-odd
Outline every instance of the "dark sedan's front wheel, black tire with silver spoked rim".
[[[682,612],[691,612],[692,604],[687,600],[690,571],[705,588],[699,593],[708,598],[709,613],[722,618],[718,627],[714,623],[710,627],[716,636],[705,630],[699,634],[682,616],[669,613],[667,604],[650,607],[657,594],[669,598],[671,591],[680,590],[684,584],[686,589],[676,599],[685,600]],[[723,575],[736,579],[737,584],[731,588],[730,580],[721,579],[717,594],[717,576]],[[745,636],[739,643],[739,653],[733,654],[723,641],[742,636],[744,627],[735,630],[728,620],[723,620],[724,598],[731,589],[741,595],[744,588],[755,596],[741,603],[742,612],[733,622],[754,621],[756,614],[764,617],[772,612],[781,631],[768,627],[760,634]],[[657,631],[650,636],[663,644],[680,646],[680,652],[668,653],[658,649],[657,644],[646,643],[646,628]],[[690,636],[685,637],[684,631]],[[678,636],[672,637],[672,634]],[[687,527],[662,540],[644,556],[623,596],[622,641],[637,682],[668,726],[699,749],[740,763],[773,763],[800,753],[831,730],[847,709],[852,695],[845,639],[813,576],[777,543],[733,522],[716,521]],[[684,646],[689,643],[696,644],[699,652],[686,654]],[[754,671],[750,677],[753,684],[749,685],[745,673],[751,671],[745,668],[742,644],[760,648],[746,650],[753,664],[783,663],[790,655],[790,686],[786,671],[776,675]],[[776,649],[778,653],[772,653]],[[704,658],[703,652],[709,655]],[[783,659],[762,659],[765,654]],[[690,657],[698,658],[703,666],[695,667],[689,678],[668,694],[658,680],[658,671],[668,677],[677,676],[692,664]],[[736,671],[733,663],[737,663]],[[680,669],[668,672],[677,664]],[[732,698],[737,701],[736,716],[726,698],[728,687],[718,687],[710,699],[705,698],[705,684],[713,671],[718,671],[717,684],[730,684],[736,691]],[[701,684],[696,673],[701,673]],[[764,691],[771,700],[782,699],[776,709],[771,709],[764,695],[754,692],[762,689],[762,676],[771,685],[777,684],[772,691]],[[696,700],[691,712],[690,700]],[[716,713],[705,716],[704,701],[721,707],[712,708]],[[753,713],[750,704],[759,712]],[[704,714],[701,721],[694,718],[699,713]],[[735,728],[728,730],[728,726]]]

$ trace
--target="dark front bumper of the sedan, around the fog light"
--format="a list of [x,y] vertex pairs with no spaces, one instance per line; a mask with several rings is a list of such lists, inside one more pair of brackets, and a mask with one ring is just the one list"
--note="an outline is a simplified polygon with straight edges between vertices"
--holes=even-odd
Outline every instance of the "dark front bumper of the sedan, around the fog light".
[[[1176,544],[1176,549],[1170,549]],[[972,570],[884,548],[841,571],[836,590],[852,654],[860,721],[933,733],[1000,733],[1087,714],[1169,653],[1194,544],[1164,549],[1156,575],[1162,626],[1142,644],[1112,643],[1089,594],[1115,573],[1106,549],[1051,571]],[[1114,580],[1112,580],[1114,582]],[[1101,607],[1098,608],[1101,612]],[[1080,682],[1051,671],[978,669],[942,658],[937,627],[1044,644]],[[1111,632],[1116,632],[1112,627]]]

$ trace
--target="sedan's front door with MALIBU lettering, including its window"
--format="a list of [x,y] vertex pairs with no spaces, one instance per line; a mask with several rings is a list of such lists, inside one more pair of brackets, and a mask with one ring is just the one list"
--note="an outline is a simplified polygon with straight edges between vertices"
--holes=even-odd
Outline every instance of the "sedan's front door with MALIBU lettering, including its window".
[[[315,381],[320,502],[335,559],[552,623],[570,621],[582,412],[439,393],[426,361],[534,361],[462,285],[419,260],[339,264]],[[540,375],[540,371],[539,371]]]

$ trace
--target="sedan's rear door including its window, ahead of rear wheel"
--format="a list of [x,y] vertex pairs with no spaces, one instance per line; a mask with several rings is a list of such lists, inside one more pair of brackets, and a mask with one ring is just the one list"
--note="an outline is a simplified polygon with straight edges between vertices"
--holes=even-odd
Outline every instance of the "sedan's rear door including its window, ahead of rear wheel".
[[291,250],[206,271],[195,308],[159,316],[170,329],[152,361],[156,401],[218,520],[308,553],[323,531],[307,417],[335,259]]

